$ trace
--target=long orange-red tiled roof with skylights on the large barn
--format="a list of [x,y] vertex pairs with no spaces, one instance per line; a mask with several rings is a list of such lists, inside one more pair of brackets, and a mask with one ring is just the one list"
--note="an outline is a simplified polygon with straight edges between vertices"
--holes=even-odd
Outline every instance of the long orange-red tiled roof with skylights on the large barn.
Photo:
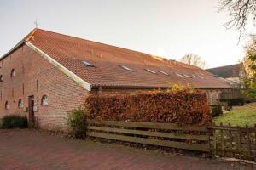
[[[99,42],[41,29],[32,31],[32,35],[26,37],[26,41],[73,71],[92,87],[164,88],[170,87],[172,83],[181,82],[190,83],[195,88],[230,88],[226,82],[195,66]],[[95,67],[84,65],[83,60]],[[125,65],[133,71],[126,71],[119,65]],[[147,68],[156,73],[146,71]],[[176,73],[189,77],[180,77]]]

